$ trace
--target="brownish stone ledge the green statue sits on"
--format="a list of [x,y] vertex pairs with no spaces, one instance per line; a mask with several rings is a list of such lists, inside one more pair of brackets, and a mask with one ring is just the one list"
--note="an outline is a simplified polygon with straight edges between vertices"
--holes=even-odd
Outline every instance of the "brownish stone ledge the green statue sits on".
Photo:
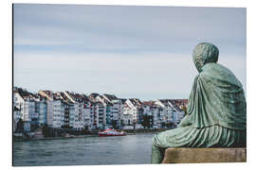
[[246,162],[247,148],[167,148],[162,163]]

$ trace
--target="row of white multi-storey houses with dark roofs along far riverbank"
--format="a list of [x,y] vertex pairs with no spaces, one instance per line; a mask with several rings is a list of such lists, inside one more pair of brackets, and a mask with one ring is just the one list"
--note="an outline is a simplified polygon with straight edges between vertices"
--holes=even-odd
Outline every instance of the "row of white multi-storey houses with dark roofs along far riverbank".
[[[47,125],[53,128],[93,130],[115,127],[176,127],[185,116],[188,100],[158,99],[141,102],[137,98],[121,99],[113,94],[39,91],[13,91],[13,120],[18,118],[34,128]],[[32,126],[31,126],[32,125]],[[130,128],[129,127],[129,128]],[[27,128],[28,129],[28,128]]]

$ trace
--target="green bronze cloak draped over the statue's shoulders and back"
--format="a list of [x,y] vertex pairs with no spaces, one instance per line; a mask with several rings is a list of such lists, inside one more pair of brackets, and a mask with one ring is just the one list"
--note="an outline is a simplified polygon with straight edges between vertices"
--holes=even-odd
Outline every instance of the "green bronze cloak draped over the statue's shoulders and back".
[[242,84],[220,64],[209,63],[202,70],[194,79],[188,104],[192,127],[246,129],[247,106]]

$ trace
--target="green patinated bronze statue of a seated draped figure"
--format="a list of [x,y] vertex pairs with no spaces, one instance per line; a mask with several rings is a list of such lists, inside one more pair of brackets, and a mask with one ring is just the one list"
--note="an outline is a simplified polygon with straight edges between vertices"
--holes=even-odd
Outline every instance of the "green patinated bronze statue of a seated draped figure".
[[208,42],[195,46],[195,76],[188,110],[177,128],[156,134],[152,163],[160,163],[168,147],[245,147],[247,103],[241,82],[216,63],[218,48]]

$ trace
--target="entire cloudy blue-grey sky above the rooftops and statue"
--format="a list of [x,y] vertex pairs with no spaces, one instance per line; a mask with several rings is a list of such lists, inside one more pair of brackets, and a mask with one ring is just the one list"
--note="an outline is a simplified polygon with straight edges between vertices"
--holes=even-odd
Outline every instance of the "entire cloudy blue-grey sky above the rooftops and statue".
[[212,42],[247,91],[246,8],[15,4],[14,86],[188,98],[192,49]]

